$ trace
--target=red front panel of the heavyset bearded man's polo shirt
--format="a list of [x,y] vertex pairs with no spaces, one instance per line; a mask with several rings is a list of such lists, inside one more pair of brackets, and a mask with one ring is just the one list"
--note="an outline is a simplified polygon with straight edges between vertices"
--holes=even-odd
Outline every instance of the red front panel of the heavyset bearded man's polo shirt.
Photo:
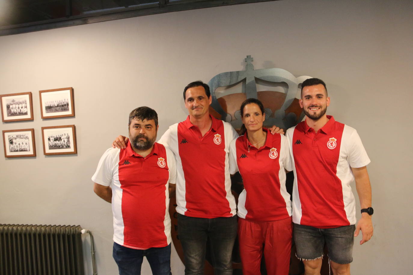
[[[162,159],[159,159],[162,158]],[[128,143],[119,154],[123,246],[148,249],[168,245],[164,220],[169,171],[165,147],[154,144],[145,158]]]

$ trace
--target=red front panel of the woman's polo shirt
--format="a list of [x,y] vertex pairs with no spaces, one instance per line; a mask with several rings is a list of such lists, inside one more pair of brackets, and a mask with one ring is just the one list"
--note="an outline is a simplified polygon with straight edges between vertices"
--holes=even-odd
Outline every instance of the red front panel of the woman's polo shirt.
[[[248,152],[247,143],[250,143],[247,134],[238,137],[235,142],[237,165],[246,192],[245,203],[240,205],[239,202],[238,208],[244,207],[247,211],[245,219],[278,221],[290,217],[280,192],[279,177],[280,157],[289,152],[281,151],[288,148],[282,148],[280,134],[272,135],[267,129],[263,130],[267,132],[266,143],[259,149],[251,146]],[[283,166],[281,168],[284,170]],[[285,189],[285,178],[283,184]]]

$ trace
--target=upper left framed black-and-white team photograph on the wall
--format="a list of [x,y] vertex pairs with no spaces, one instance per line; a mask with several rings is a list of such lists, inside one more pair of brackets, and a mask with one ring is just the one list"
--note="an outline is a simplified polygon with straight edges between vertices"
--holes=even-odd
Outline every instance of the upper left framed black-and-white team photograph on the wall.
[[0,95],[3,122],[33,120],[31,92]]

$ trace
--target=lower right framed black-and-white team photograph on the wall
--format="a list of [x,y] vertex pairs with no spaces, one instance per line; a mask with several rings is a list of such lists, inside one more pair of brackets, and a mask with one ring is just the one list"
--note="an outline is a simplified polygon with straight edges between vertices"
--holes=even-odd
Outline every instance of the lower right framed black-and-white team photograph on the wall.
[[77,154],[75,125],[42,127],[45,155]]

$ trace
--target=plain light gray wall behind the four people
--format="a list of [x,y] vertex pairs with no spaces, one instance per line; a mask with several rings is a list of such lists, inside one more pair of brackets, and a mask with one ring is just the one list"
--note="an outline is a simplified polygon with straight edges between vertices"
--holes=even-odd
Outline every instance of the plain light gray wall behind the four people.
[[[363,140],[375,233],[356,238],[352,273],[410,274],[412,3],[275,1],[0,37],[0,94],[31,91],[34,107],[34,121],[1,128],[34,128],[37,148],[36,158],[0,159],[0,223],[80,224],[95,235],[98,273],[116,274],[110,204],[90,180],[100,156],[127,134],[130,110],[157,110],[160,136],[185,119],[188,82],[244,70],[251,54],[256,69],[325,80],[328,113]],[[42,120],[38,91],[61,87],[74,87],[76,117]],[[78,154],[43,155],[40,128],[68,124]],[[172,269],[183,274],[175,252]]]

